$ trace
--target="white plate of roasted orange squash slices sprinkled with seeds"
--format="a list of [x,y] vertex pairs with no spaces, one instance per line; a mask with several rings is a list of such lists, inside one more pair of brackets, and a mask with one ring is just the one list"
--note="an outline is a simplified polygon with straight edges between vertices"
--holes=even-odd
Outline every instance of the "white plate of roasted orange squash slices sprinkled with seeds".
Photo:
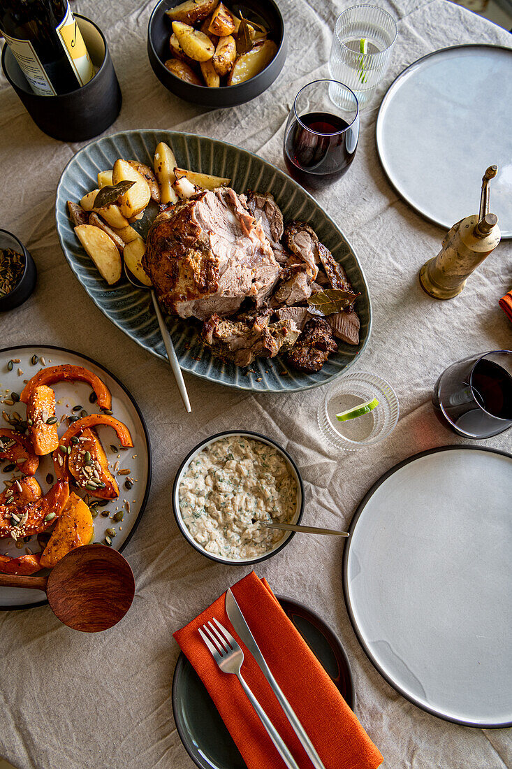
[[[137,404],[84,355],[30,345],[0,351],[0,573],[36,574],[91,542],[123,550],[151,483]],[[0,608],[45,602],[0,588]]]

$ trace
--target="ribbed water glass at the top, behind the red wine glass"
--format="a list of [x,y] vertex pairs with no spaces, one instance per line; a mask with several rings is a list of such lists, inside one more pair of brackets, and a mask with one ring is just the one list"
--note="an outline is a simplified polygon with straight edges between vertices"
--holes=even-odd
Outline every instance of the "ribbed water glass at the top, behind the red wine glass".
[[376,5],[354,5],[337,18],[331,47],[331,77],[357,96],[360,105],[369,101],[384,77],[397,25]]

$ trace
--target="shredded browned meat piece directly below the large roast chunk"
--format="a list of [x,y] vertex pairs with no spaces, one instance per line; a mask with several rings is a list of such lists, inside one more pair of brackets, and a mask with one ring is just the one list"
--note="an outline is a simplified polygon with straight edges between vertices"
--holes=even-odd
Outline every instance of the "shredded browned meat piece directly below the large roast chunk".
[[269,323],[265,314],[251,321],[231,321],[212,315],[202,336],[218,358],[236,366],[248,366],[254,358],[274,358],[290,350],[300,334],[292,320]]

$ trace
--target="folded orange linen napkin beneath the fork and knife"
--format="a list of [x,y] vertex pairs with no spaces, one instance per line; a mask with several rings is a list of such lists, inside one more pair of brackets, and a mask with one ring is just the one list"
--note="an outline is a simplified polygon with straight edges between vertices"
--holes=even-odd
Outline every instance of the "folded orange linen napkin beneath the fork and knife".
[[[276,681],[317,749],[326,769],[376,769],[383,758],[331,678],[294,628],[268,583],[254,571],[231,588]],[[217,618],[244,650],[241,673],[301,769],[311,761],[267,679],[228,620],[225,594],[176,632],[175,638],[208,689],[249,769],[283,769],[284,762],[234,675],[222,673],[198,628]]]

